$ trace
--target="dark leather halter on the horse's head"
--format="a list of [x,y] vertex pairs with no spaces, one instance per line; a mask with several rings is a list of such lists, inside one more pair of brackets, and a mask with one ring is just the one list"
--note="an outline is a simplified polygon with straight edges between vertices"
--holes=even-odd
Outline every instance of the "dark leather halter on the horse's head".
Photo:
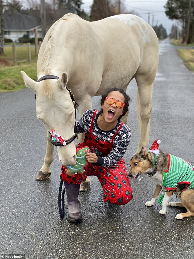
[[[43,80],[46,80],[46,79],[59,79],[59,77],[58,77],[58,76],[55,76],[55,75],[45,75],[45,76],[39,78],[37,82],[40,82],[40,81],[43,81]],[[65,88],[67,89],[67,91],[68,91],[69,94],[70,94],[71,100],[72,100],[73,105],[74,105],[75,116],[76,116],[76,107],[79,106],[79,105],[78,105],[78,103],[76,102],[76,100],[74,99],[73,93],[72,93],[71,89],[69,89],[67,86],[65,86]],[[50,131],[48,131],[48,132],[50,133]],[[73,135],[71,138],[65,140],[66,144],[71,143],[75,138],[77,138],[77,134],[76,134],[76,122],[75,122],[75,125],[74,125],[74,135]],[[51,134],[50,134],[50,142],[51,142],[54,146],[57,146],[57,147],[64,147],[62,143],[60,143],[60,142],[54,142],[54,141],[52,140]]]

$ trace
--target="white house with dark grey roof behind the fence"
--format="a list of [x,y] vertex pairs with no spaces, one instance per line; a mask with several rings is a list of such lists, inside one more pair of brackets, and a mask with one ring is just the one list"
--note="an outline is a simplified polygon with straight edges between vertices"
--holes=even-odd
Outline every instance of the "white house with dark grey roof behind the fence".
[[34,38],[34,29],[37,28],[38,38],[42,38],[40,18],[24,11],[15,9],[4,12],[5,38],[17,42],[19,38],[28,35]]

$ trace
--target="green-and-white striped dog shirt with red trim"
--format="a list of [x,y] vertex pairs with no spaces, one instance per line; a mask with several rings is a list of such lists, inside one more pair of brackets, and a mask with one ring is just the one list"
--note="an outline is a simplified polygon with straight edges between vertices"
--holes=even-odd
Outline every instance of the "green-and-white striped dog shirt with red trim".
[[181,184],[188,184],[181,192],[194,189],[194,167],[184,159],[168,154],[168,169],[163,172],[162,186],[172,191]]

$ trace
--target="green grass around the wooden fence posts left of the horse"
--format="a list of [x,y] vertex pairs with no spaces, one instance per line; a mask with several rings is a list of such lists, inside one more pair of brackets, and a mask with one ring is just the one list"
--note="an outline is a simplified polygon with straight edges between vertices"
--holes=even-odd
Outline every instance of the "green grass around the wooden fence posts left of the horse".
[[[35,55],[35,47],[31,47],[32,62],[28,63],[27,48],[16,46],[17,64],[13,64],[12,47],[5,46],[4,54],[0,55],[0,92],[17,91],[26,88],[21,70],[29,77],[37,80],[37,56]],[[4,64],[6,61],[6,64]]]

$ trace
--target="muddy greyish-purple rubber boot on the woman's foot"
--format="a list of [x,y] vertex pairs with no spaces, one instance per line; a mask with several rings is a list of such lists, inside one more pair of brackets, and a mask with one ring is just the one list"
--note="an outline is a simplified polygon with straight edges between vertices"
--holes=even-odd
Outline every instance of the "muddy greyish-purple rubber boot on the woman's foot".
[[80,185],[65,183],[65,191],[67,195],[69,221],[80,222],[83,219],[80,211],[80,202],[77,199],[80,191]]

